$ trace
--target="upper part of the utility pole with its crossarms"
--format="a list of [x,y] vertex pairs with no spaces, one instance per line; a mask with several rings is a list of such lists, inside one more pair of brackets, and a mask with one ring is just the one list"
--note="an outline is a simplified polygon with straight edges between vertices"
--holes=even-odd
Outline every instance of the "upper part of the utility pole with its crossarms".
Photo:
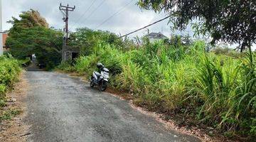
[[59,9],[64,14],[63,21],[65,22],[65,28],[63,29],[63,31],[65,31],[65,45],[67,45],[68,44],[68,12],[74,11],[75,6],[74,7],[63,6],[60,3]]

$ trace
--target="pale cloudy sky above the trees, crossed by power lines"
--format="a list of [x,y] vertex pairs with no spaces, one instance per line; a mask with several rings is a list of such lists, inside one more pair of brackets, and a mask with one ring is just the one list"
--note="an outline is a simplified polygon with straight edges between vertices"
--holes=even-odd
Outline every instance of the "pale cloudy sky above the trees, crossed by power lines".
[[[63,14],[58,9],[60,3],[76,6],[75,11],[70,13],[69,23],[71,31],[78,27],[95,29],[118,11],[118,14],[112,16],[112,18],[97,29],[123,35],[166,16],[165,13],[154,13],[153,11],[139,9],[136,2],[137,0],[2,0],[3,28],[8,30],[11,27],[11,24],[6,23],[6,21],[11,19],[11,16],[18,17],[21,11],[28,11],[28,9],[39,11],[46,18],[50,26],[63,28]],[[168,20],[157,23],[151,26],[149,31],[162,31],[164,35],[171,35],[173,32],[171,32],[170,25],[167,23]],[[143,35],[143,33],[146,33],[146,31],[134,33],[131,36]],[[186,29],[182,33],[179,31],[175,33],[193,34],[191,28]]]

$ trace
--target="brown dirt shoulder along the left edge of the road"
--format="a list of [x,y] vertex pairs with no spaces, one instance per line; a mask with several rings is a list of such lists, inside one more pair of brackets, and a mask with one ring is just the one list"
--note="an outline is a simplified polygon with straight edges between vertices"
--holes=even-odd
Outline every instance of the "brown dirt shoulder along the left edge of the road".
[[0,124],[0,141],[12,142],[26,141],[28,135],[28,126],[23,122],[26,116],[26,92],[28,90],[28,82],[24,79],[24,72],[21,73],[18,82],[14,84],[14,89],[7,94],[7,105],[4,111],[17,112],[16,116],[9,120],[1,121]]

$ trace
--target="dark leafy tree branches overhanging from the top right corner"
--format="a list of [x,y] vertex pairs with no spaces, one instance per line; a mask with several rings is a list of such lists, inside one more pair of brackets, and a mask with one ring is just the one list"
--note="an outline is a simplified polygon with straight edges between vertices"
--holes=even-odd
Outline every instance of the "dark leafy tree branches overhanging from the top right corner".
[[198,32],[210,33],[211,43],[239,43],[240,51],[256,42],[255,0],[139,0],[142,9],[165,11],[174,28],[183,30],[197,19]]

